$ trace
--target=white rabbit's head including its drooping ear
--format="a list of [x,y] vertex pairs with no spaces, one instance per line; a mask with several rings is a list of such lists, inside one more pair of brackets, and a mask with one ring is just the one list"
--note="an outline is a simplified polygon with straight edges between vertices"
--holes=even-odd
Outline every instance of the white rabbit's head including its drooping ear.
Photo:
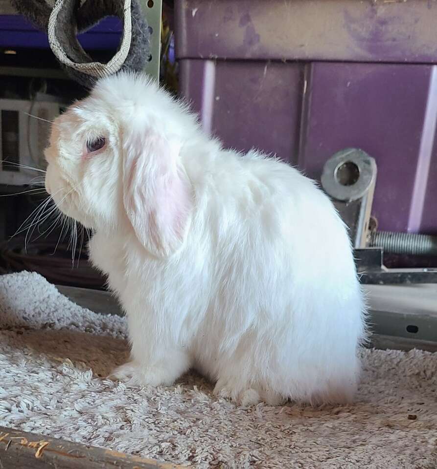
[[196,120],[143,76],[105,78],[53,123],[46,190],[94,230],[131,230],[152,254],[184,240],[192,209],[181,147]]

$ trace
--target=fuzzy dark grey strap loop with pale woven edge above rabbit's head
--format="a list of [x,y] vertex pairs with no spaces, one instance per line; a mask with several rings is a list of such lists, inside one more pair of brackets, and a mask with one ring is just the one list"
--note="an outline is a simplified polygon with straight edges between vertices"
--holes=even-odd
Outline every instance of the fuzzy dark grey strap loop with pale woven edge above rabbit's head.
[[[119,70],[140,71],[149,56],[149,30],[137,0],[11,0],[15,8],[47,32],[50,48],[71,78],[92,87],[101,77]],[[90,57],[77,40],[107,16],[123,21],[123,36],[106,63]]]

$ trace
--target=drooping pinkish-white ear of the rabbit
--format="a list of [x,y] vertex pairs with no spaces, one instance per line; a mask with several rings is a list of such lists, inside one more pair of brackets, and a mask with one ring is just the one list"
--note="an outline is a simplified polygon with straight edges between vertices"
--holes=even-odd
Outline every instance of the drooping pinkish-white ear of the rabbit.
[[152,130],[124,136],[124,209],[140,243],[156,256],[169,256],[182,244],[191,211],[179,150]]

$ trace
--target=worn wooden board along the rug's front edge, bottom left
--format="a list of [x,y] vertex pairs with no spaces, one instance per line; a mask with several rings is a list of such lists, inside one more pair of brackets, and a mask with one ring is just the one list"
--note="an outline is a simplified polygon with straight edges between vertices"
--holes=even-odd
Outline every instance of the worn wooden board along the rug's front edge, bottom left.
[[110,449],[0,426],[0,469],[182,469]]

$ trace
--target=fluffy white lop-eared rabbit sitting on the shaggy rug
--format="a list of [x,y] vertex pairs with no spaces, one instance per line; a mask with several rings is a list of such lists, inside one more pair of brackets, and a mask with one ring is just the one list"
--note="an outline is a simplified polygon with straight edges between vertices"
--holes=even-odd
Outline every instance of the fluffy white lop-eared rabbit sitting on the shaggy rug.
[[128,320],[116,379],[189,368],[238,404],[350,401],[365,304],[345,226],[313,181],[225,150],[153,81],[120,73],[56,119],[46,189],[92,228]]

